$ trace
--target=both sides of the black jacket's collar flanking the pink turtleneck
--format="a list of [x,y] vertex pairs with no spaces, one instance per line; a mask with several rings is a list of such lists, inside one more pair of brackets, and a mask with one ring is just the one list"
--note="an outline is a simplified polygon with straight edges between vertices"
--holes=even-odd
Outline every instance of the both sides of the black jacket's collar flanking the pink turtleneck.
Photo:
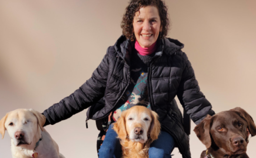
[[[121,35],[114,45],[115,50],[119,56],[124,59],[128,64],[130,63],[130,54],[134,47],[135,41],[126,39],[124,35]],[[177,50],[183,49],[184,44],[178,40],[171,38],[162,39],[160,46],[157,48],[155,55],[162,56],[163,52],[167,55],[173,55]]]

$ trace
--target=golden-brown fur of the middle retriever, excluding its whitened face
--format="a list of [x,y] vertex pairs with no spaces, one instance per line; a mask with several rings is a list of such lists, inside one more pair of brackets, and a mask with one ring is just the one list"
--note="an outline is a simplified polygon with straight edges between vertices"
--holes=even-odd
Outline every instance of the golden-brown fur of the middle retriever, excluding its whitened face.
[[[126,124],[126,118],[130,113],[137,113],[140,115],[142,112],[146,112],[151,118],[151,125],[147,131],[147,141],[141,143],[138,141],[131,141],[129,139],[128,133],[131,131],[128,124]],[[142,125],[135,125],[136,127],[141,127]],[[154,111],[149,110],[143,106],[135,106],[124,112],[122,112],[121,117],[116,123],[114,123],[113,129],[116,131],[120,138],[120,143],[122,145],[123,158],[148,158],[148,149],[150,144],[158,138],[160,133],[160,123],[158,121],[158,116]]]

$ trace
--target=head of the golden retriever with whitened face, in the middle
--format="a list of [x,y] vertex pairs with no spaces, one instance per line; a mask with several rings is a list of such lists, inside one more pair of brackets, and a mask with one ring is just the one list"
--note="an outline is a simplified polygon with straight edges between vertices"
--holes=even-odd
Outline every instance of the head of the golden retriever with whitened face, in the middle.
[[122,112],[113,129],[121,140],[131,140],[145,143],[158,138],[160,123],[154,111],[143,106],[134,106]]

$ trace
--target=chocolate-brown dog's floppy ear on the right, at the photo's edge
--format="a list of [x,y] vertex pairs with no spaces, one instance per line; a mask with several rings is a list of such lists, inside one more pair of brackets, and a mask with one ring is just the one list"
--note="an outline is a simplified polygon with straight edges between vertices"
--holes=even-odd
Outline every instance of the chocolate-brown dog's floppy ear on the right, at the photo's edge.
[[253,121],[253,118],[242,108],[233,108],[231,109],[233,111],[238,111],[238,114],[240,117],[242,117],[244,120],[246,120],[246,122],[248,123],[248,129],[249,132],[252,134],[252,136],[256,135],[256,125]]

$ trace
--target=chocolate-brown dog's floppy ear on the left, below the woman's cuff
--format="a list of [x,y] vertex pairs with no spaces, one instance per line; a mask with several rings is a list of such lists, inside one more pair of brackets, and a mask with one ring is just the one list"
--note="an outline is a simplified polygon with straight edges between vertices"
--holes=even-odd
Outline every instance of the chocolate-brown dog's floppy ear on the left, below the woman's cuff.
[[211,138],[210,138],[210,123],[211,116],[207,115],[200,124],[195,126],[194,132],[199,140],[206,146],[206,148],[210,148],[211,146]]

